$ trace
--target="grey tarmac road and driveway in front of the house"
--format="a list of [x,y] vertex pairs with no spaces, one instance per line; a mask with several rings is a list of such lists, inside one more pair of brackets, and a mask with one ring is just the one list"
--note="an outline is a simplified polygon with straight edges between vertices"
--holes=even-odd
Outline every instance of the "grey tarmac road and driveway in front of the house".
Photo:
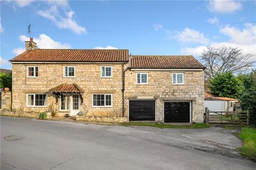
[[256,169],[233,133],[1,117],[1,169]]

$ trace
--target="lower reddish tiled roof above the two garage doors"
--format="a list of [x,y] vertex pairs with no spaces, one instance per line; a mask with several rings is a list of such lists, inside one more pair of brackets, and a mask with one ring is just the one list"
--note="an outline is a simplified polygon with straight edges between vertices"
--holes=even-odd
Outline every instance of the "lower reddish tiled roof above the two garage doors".
[[132,69],[205,69],[191,55],[133,55],[131,59]]

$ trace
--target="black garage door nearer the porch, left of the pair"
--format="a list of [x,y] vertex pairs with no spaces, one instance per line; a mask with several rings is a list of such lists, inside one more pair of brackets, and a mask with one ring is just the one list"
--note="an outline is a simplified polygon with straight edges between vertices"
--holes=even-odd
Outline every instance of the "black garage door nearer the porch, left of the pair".
[[155,121],[155,100],[129,100],[129,121]]

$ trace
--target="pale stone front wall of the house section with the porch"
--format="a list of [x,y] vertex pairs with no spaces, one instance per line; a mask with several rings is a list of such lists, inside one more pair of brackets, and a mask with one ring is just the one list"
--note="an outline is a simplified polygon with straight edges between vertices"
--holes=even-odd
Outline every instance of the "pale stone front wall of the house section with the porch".
[[[27,107],[27,94],[45,94],[62,83],[76,83],[83,92],[81,110],[87,115],[122,115],[122,71],[123,64],[12,64],[12,106],[24,111],[44,112],[47,107]],[[27,78],[27,66],[38,66],[38,77]],[[64,78],[63,67],[75,66],[75,78]],[[112,66],[113,78],[101,78],[100,66]],[[127,64],[124,65],[127,67]],[[112,94],[113,107],[92,107],[92,94]],[[47,95],[47,106],[55,103],[53,95]],[[69,107],[70,108],[70,107]],[[59,114],[69,113],[60,111]]]

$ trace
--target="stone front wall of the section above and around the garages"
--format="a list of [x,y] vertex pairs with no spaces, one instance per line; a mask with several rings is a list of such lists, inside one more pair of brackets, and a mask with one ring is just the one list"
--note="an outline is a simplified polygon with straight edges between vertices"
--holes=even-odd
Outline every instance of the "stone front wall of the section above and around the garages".
[[[136,73],[148,73],[148,84],[137,84]],[[177,72],[177,71],[175,71]],[[164,122],[164,101],[191,101],[191,122],[203,122],[204,71],[178,71],[183,73],[184,84],[172,84],[174,71],[125,72],[125,116],[129,116],[129,99],[156,99],[156,121]]]

